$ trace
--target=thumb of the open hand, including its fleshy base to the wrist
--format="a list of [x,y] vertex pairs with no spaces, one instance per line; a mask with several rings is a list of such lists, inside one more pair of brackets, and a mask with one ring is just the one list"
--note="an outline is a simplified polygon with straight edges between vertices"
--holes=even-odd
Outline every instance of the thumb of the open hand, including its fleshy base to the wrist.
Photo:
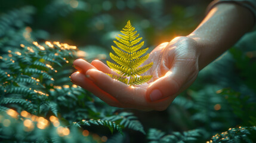
[[188,88],[198,75],[198,60],[177,59],[163,77],[149,85],[146,98],[149,102],[171,100]]

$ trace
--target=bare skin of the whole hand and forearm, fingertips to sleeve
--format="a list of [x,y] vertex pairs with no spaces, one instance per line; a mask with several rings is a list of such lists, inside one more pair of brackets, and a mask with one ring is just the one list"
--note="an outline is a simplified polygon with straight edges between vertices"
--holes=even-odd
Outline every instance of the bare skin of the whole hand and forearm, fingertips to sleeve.
[[162,111],[192,85],[199,70],[238,41],[253,24],[254,17],[248,9],[232,2],[220,3],[190,35],[161,43],[150,52],[144,63],[154,63],[144,73],[153,75],[149,82],[128,86],[107,76],[105,73],[115,73],[101,61],[90,64],[82,59],[74,61],[78,71],[71,80],[111,106]]

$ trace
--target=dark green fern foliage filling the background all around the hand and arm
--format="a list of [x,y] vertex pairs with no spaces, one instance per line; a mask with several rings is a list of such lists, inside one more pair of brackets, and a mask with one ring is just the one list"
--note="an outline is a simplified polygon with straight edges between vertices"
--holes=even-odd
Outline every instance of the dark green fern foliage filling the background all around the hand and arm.
[[[110,107],[70,82],[69,76],[74,71],[72,61],[76,58],[105,61],[109,53],[107,47],[111,46],[125,20],[134,21],[140,36],[146,39],[144,45],[152,45],[138,51],[151,51],[161,42],[193,31],[202,20],[208,2],[200,0],[195,5],[189,1],[145,0],[2,1],[1,142],[104,142],[103,136],[107,137],[107,142],[115,143],[159,142],[157,138],[168,142],[210,139],[213,142],[255,142],[256,32],[243,36],[229,52],[200,71],[196,82],[178,95],[165,111]],[[61,42],[50,42],[54,45],[51,48],[45,42],[49,39],[61,39],[79,49],[61,49],[58,46]],[[45,50],[33,41],[38,41]],[[113,51],[115,57],[127,56],[118,45]],[[134,58],[140,57],[143,55],[134,55]],[[113,77],[128,80],[117,74]],[[17,117],[10,116],[10,111],[17,111]],[[22,111],[30,116],[21,116]],[[47,127],[39,129],[38,121],[33,120],[35,117],[47,120]],[[56,117],[60,125],[52,122],[51,117]],[[26,119],[32,121],[33,130],[24,126]],[[58,127],[69,129],[69,135],[59,134]],[[186,133],[190,130],[203,131],[198,132],[200,136],[192,136],[196,140],[189,141],[191,136]],[[89,135],[84,136],[84,131]],[[152,139],[147,139],[144,132],[147,136],[151,134]],[[217,133],[218,138],[212,137]]]

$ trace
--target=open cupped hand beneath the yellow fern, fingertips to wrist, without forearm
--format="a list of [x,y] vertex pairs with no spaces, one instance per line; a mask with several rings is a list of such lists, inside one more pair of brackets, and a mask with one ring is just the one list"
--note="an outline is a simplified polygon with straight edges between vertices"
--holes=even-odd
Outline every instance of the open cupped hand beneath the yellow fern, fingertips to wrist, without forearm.
[[[72,82],[92,92],[109,105],[138,110],[165,110],[174,98],[188,88],[198,75],[199,45],[192,38],[178,37],[157,46],[144,64],[153,66],[144,75],[153,75],[143,85],[128,86],[105,73],[115,74],[106,64],[78,59],[79,71]],[[143,64],[143,65],[144,65]]]

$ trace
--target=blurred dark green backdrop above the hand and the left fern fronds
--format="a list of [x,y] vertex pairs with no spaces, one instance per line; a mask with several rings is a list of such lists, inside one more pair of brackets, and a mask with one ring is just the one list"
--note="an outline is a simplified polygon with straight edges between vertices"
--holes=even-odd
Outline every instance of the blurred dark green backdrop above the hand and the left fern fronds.
[[[88,51],[87,58],[95,57],[91,50],[102,48],[109,53],[110,45],[128,20],[141,33],[146,46],[154,48],[175,36],[186,36],[199,24],[210,1],[159,0],[54,0],[1,1],[0,13],[30,6],[26,26],[38,33],[39,39],[66,42]],[[17,17],[22,18],[22,17]],[[17,26],[21,26],[16,21]],[[104,53],[106,51],[106,53]],[[88,57],[89,56],[89,57]],[[90,57],[91,56],[91,57]]]

